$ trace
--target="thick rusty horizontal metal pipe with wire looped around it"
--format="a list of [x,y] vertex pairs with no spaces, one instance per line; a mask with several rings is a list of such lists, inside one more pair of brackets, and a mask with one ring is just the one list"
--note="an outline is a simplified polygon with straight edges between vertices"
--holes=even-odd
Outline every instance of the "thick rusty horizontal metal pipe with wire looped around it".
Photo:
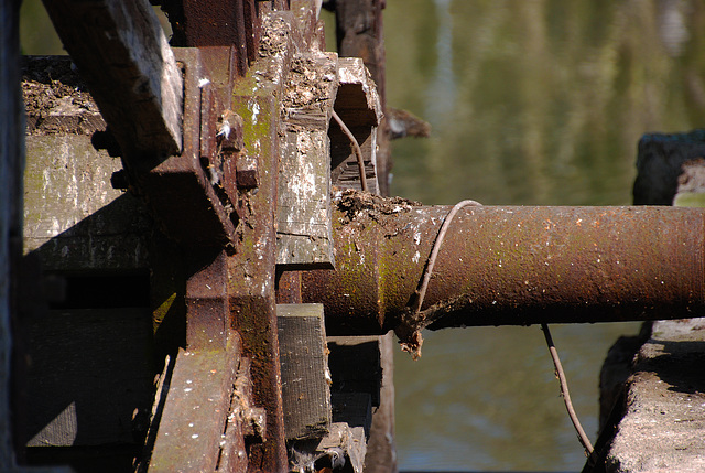
[[[338,207],[335,271],[303,278],[333,334],[680,319],[703,313],[705,212],[675,207]],[[399,333],[399,332],[398,332]]]

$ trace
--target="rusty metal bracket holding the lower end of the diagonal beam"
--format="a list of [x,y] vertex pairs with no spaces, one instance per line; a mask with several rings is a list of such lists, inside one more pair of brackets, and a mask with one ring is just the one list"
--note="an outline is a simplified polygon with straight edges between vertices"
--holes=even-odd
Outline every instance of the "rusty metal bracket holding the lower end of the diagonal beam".
[[[231,189],[230,161],[243,147],[241,127],[230,117],[226,93],[231,84],[230,47],[175,49],[184,71],[184,151],[141,175],[141,191],[166,234],[184,245],[232,247],[238,223],[237,189]],[[225,63],[224,69],[209,64]],[[220,78],[218,80],[217,78]],[[220,138],[221,137],[221,138]],[[225,149],[225,151],[224,151]]]

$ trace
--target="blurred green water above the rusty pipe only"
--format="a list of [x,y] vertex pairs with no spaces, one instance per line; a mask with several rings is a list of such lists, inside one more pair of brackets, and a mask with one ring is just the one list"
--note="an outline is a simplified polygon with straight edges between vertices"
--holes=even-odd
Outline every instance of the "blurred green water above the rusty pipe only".
[[[685,37],[666,46],[669,4]],[[434,127],[394,147],[394,193],[629,203],[638,138],[703,123],[704,13],[696,1],[390,0],[389,103]]]

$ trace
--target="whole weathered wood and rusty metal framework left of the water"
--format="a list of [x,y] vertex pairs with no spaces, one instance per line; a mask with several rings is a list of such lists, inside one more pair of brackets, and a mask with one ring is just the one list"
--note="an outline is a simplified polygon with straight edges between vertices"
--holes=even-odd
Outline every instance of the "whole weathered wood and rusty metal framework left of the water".
[[[28,111],[28,162],[41,190],[28,181],[23,257],[13,240],[13,258],[24,267],[35,261],[36,278],[15,298],[19,461],[80,470],[133,458],[135,471],[279,472],[302,455],[333,464],[335,452],[349,471],[361,471],[371,405],[362,405],[367,428],[359,430],[334,419],[329,401],[310,409],[330,399],[332,378],[323,314],[300,303],[297,275],[335,264],[329,198],[338,171],[330,150],[341,163],[355,157],[347,138],[328,129],[334,107],[351,114],[347,120],[367,143],[366,172],[377,180],[382,107],[375,83],[361,62],[323,52],[321,2],[162,3],[171,45],[145,1],[46,1],[79,77],[65,60],[23,63],[25,99],[33,86],[41,95],[66,79],[80,83],[75,92],[87,105]],[[17,87],[19,57],[9,63],[18,68],[7,69],[14,76],[3,85]],[[32,76],[32,67],[54,71],[57,80]],[[359,112],[365,118],[356,121]],[[20,142],[17,130],[6,130]],[[8,157],[3,162],[20,152]],[[57,159],[65,170],[52,164]],[[78,184],[64,187],[77,173]],[[73,202],[52,204],[52,189],[58,201],[73,192]],[[22,200],[10,202],[17,211]],[[17,271],[3,278],[18,279]],[[23,303],[42,288],[55,295]],[[283,302],[293,305],[283,310]],[[284,356],[280,344],[294,346],[292,333],[305,334],[307,347]],[[22,347],[37,336],[45,342]],[[311,344],[321,347],[313,364]],[[371,350],[379,356],[379,344]],[[66,365],[62,354],[75,362]],[[101,373],[89,368],[91,356]],[[282,384],[299,379],[296,366],[306,366],[306,393],[317,386],[307,404]],[[61,377],[47,384],[54,370]],[[48,396],[47,386],[67,385],[73,394],[44,411],[30,407]],[[105,407],[117,396],[108,419]],[[284,406],[286,399],[294,400]],[[124,460],[110,466],[128,469]]]

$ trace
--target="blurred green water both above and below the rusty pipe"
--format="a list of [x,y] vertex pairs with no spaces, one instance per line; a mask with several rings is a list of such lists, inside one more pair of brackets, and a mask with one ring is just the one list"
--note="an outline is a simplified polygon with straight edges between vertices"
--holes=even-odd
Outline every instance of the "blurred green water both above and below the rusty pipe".
[[[426,204],[621,205],[647,131],[705,125],[697,1],[389,0],[388,100],[433,126],[394,143],[392,192]],[[637,324],[554,327],[594,440],[598,372]],[[405,470],[579,471],[539,327],[426,333],[397,357]]]

